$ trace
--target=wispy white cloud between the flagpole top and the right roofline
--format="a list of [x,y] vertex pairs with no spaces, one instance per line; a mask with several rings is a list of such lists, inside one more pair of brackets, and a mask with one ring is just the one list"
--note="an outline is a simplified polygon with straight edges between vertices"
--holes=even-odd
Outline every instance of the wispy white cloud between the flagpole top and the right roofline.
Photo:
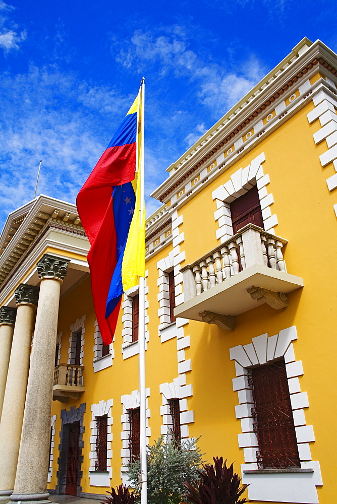
[[116,60],[137,73],[152,65],[158,78],[170,73],[181,81],[187,79],[199,103],[214,114],[226,112],[265,75],[265,69],[253,56],[233,68],[226,53],[221,62],[204,53],[199,55],[189,48],[183,27],[162,27],[158,31],[164,34],[136,30],[129,41],[115,41],[112,47]]

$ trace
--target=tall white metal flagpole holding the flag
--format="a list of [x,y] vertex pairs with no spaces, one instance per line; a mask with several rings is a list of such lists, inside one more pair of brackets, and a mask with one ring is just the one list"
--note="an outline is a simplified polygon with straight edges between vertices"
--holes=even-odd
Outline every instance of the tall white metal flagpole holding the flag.
[[[140,144],[140,225],[144,212],[144,103],[145,78],[141,82],[141,144]],[[146,386],[145,386],[145,278],[139,277],[139,416],[140,416],[140,470],[141,504],[147,504],[147,465],[146,465]]]

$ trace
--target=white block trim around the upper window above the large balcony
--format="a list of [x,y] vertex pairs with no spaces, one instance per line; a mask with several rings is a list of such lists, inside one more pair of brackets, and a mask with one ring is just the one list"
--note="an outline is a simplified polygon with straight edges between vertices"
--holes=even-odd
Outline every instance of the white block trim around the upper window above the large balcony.
[[269,175],[264,174],[262,163],[265,161],[264,152],[261,152],[246,168],[239,168],[231,175],[224,184],[219,185],[212,192],[212,198],[216,202],[217,210],[214,219],[218,221],[219,228],[216,230],[216,238],[224,243],[233,236],[230,203],[243,194],[247,193],[254,185],[258,188],[264,230],[275,234],[277,226],[276,214],[271,214],[271,205],[274,203],[272,194],[267,193],[266,186],[269,184]]

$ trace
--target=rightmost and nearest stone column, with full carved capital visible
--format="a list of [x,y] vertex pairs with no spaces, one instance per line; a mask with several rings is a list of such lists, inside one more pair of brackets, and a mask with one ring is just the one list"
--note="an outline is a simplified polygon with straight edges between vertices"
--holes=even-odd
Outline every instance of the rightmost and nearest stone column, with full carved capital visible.
[[50,410],[54,379],[60,288],[68,259],[45,254],[37,263],[41,279],[27,386],[18,467],[11,501],[48,502]]

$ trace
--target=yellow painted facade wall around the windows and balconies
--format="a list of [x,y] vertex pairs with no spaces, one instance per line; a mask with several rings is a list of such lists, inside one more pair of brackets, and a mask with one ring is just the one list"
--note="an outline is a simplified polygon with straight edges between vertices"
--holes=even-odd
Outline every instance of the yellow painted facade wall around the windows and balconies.
[[[239,168],[247,166],[261,152],[265,153],[264,173],[268,173],[268,194],[273,194],[272,214],[277,215],[275,234],[289,240],[285,250],[288,273],[302,277],[304,288],[289,294],[289,305],[285,309],[273,310],[268,305],[256,307],[237,317],[234,331],[223,332],[216,326],[201,322],[190,322],[185,326],[185,335],[191,337],[191,347],[186,349],[186,359],[192,359],[192,371],[187,373],[187,383],[193,384],[193,397],[188,399],[188,409],[195,412],[195,423],[190,424],[190,435],[200,439],[200,447],[211,460],[218,455],[234,462],[240,473],[244,462],[243,450],[238,448],[237,434],[241,433],[240,420],[235,418],[237,393],[233,392],[232,379],[236,376],[234,361],[230,360],[229,349],[247,344],[263,333],[269,336],[296,325],[298,340],[294,342],[295,356],[302,360],[304,376],[300,377],[301,390],[308,392],[310,407],[306,409],[307,425],[313,425],[316,436],[311,443],[313,460],[320,462],[323,487],[318,487],[319,501],[334,502],[331,470],[334,465],[336,432],[331,419],[336,415],[336,403],[330,397],[334,383],[335,338],[335,285],[333,265],[337,248],[336,233],[331,231],[336,224],[332,205],[335,196],[328,192],[326,178],[333,174],[331,165],[321,168],[319,155],[326,150],[325,142],[316,146],[312,134],[320,127],[316,121],[309,125],[306,114],[313,108],[312,102],[256,145],[226,172],[219,175],[203,191],[189,200],[179,215],[184,223],[185,241],[181,250],[186,252],[186,262],[192,263],[219,244],[214,221],[215,201],[211,193],[221,183],[226,183]],[[323,145],[324,144],[324,145]],[[149,408],[151,410],[150,442],[160,434],[161,395],[159,384],[172,382],[178,376],[176,339],[160,343],[157,309],[158,270],[156,263],[166,257],[172,249],[169,245],[147,262],[149,275],[149,332],[150,342],[146,352],[146,385],[150,387]],[[184,265],[183,264],[183,265]],[[93,373],[93,334],[95,315],[90,293],[90,279],[64,297],[60,303],[58,331],[63,331],[61,362],[67,362],[70,325],[86,314],[84,346],[85,393],[78,401],[68,404],[53,403],[52,414],[57,415],[53,475],[50,488],[57,484],[57,447],[61,430],[60,411],[73,405],[86,403],[84,415],[84,462],[82,464],[82,491],[104,493],[105,488],[90,487],[89,437],[90,406],[100,400],[114,399],[112,427],[113,479],[111,485],[120,483],[121,457],[121,395],[131,394],[138,389],[138,356],[123,360],[121,352],[121,321],[114,343],[113,366]]]

